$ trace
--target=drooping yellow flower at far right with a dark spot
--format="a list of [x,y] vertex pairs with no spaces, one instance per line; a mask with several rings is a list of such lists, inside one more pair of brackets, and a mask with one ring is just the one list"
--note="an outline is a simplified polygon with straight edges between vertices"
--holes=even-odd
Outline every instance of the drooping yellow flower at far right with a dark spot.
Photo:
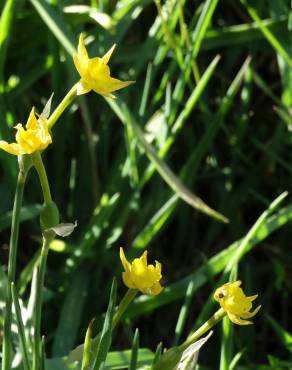
[[227,283],[216,289],[214,298],[220,306],[226,311],[230,320],[234,324],[249,325],[251,321],[245,320],[253,317],[261,308],[258,306],[252,312],[252,302],[257,298],[256,295],[247,297],[240,288],[241,281]]

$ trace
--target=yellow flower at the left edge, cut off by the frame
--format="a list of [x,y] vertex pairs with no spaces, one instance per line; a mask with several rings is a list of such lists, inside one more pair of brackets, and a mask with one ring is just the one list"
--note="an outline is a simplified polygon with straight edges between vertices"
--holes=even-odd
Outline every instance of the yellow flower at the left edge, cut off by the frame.
[[21,123],[15,126],[16,143],[7,143],[0,140],[0,148],[14,155],[31,154],[37,150],[45,149],[52,142],[45,117],[36,118],[34,108],[32,108],[25,128]]

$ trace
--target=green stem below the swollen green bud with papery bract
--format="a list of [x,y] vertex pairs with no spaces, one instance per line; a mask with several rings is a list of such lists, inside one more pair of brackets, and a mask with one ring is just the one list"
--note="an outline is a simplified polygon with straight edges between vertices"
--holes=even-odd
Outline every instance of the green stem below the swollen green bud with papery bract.
[[33,314],[33,359],[32,370],[39,370],[42,359],[42,339],[41,339],[41,315],[42,315],[42,291],[46,272],[46,262],[50,242],[53,240],[51,235],[43,235],[43,245],[40,255],[40,264],[37,271],[36,297]]

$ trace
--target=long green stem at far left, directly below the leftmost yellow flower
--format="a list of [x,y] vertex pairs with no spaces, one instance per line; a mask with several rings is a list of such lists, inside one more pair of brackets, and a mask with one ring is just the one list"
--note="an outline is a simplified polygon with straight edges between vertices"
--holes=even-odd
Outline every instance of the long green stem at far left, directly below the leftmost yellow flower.
[[11,235],[9,243],[9,260],[8,260],[8,272],[7,272],[7,291],[6,291],[6,315],[4,318],[4,338],[2,346],[2,370],[11,370],[11,350],[12,350],[12,339],[11,339],[11,321],[12,321],[12,296],[11,296],[11,283],[15,281],[15,269],[16,269],[16,255],[17,255],[17,244],[19,234],[19,222],[20,222],[20,210],[23,198],[23,190],[25,180],[27,177],[29,168],[20,167],[16,192],[13,205],[12,213],[12,224],[11,224]]

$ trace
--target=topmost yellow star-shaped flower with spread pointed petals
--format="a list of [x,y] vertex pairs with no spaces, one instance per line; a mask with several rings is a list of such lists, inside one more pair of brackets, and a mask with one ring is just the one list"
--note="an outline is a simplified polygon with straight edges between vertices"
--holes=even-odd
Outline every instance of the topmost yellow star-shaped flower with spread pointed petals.
[[120,81],[110,76],[110,68],[107,64],[114,48],[115,45],[102,58],[89,58],[83,35],[80,35],[77,55],[74,56],[74,64],[81,77],[77,87],[77,95],[94,90],[98,94],[114,97],[111,94],[113,91],[120,90],[134,82]]

